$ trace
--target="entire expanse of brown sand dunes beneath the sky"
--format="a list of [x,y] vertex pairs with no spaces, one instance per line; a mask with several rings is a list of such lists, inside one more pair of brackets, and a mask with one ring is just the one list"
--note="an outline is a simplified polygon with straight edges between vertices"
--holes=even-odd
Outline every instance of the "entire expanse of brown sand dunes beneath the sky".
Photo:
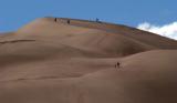
[[177,41],[41,18],[0,34],[0,103],[177,103]]

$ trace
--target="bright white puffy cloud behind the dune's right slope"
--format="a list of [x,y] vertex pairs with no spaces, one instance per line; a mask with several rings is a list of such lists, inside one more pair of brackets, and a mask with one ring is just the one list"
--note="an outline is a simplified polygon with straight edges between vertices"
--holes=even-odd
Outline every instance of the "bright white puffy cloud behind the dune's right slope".
[[177,21],[165,25],[155,25],[148,22],[144,22],[138,24],[137,28],[177,40]]

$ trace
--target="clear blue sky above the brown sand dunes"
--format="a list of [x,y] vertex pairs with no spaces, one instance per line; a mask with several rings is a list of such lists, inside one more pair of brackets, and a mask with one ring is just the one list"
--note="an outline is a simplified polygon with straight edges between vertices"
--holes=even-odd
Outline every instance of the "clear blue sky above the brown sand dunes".
[[136,27],[177,20],[177,0],[0,0],[0,32],[41,17],[95,19]]

